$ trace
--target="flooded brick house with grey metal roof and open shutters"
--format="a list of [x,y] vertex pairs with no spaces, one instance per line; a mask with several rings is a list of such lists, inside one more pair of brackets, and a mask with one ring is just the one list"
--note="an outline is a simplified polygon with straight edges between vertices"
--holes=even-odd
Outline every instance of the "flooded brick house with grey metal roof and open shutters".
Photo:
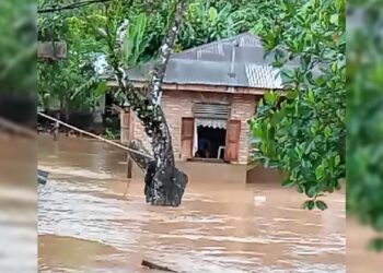
[[[279,71],[264,55],[259,37],[248,33],[172,55],[161,104],[178,162],[247,165],[247,120],[266,92],[282,88]],[[130,70],[129,80],[144,87],[152,68],[149,62]],[[129,139],[150,146],[140,120],[126,110],[121,141]]]

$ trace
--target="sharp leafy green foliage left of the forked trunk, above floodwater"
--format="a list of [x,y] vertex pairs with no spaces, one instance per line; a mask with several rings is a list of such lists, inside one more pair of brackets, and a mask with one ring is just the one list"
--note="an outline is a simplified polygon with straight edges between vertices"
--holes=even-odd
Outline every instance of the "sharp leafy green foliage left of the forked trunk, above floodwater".
[[[40,0],[39,7],[51,4]],[[94,62],[100,43],[93,28],[105,24],[97,7],[46,13],[38,16],[39,40],[65,40],[68,58],[37,63],[38,103],[42,108],[92,110],[105,92]],[[92,24],[90,24],[92,22]]]

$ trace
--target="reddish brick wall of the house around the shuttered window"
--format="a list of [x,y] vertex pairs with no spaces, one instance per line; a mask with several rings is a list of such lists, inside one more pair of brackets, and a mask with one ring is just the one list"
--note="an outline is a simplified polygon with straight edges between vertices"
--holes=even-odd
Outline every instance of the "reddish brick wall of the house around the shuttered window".
[[[230,119],[241,120],[241,135],[239,149],[239,164],[246,164],[249,155],[248,126],[247,120],[255,112],[257,96],[249,94],[228,94],[197,91],[164,91],[161,99],[162,109],[165,114],[167,124],[172,134],[174,156],[181,159],[181,129],[182,118],[194,117],[194,103],[218,103],[227,102],[231,104]],[[130,115],[132,124],[132,139],[139,139],[143,145],[150,150],[150,140],[146,135],[140,120]]]

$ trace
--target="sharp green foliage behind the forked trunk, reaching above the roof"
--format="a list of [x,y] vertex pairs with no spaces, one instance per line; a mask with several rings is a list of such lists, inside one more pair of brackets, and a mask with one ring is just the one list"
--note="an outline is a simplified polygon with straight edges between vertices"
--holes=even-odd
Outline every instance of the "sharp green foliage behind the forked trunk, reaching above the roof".
[[[38,7],[70,2],[72,1],[38,0]],[[151,60],[156,57],[166,35],[174,4],[174,0],[111,0],[108,3],[39,14],[38,39],[66,40],[69,48],[67,60],[54,64],[38,63],[39,105],[48,108],[61,102],[61,107],[65,108],[92,109],[102,95],[97,88],[102,81],[91,66],[97,55],[107,55],[111,48],[105,36],[118,39],[115,36],[117,28],[127,20],[127,35],[123,50],[118,52],[120,60],[129,68]],[[243,27],[248,24],[245,19],[251,14],[249,7],[246,1],[239,4],[239,1],[192,0],[185,12],[175,50],[246,31]],[[82,69],[85,67],[88,69]]]

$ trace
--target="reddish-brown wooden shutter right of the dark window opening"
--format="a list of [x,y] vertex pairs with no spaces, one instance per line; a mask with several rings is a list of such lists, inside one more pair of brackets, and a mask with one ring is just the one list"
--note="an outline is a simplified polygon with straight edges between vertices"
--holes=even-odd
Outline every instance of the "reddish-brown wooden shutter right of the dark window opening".
[[227,127],[225,162],[237,162],[241,138],[241,120],[229,120]]

